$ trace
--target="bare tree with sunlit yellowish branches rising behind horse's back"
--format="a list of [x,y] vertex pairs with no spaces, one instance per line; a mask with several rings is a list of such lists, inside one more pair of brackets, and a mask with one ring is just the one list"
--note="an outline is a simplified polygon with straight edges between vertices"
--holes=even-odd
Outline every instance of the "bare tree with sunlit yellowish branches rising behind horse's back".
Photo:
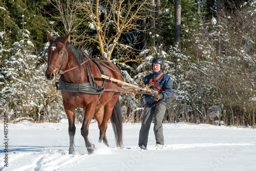
[[[145,4],[145,1],[138,0],[133,2],[89,0],[78,4],[97,34],[97,38],[86,38],[99,45],[100,54],[103,58],[111,59],[111,54],[118,45],[118,40],[122,34],[141,28],[138,20],[143,20],[146,17],[141,16],[141,10]],[[111,32],[113,29],[114,31]]]

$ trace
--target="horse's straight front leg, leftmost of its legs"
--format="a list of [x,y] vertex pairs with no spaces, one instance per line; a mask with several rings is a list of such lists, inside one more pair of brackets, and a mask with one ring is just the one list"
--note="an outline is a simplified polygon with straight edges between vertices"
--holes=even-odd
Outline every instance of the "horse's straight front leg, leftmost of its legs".
[[69,120],[69,154],[75,154],[74,137],[76,133],[75,126],[75,111],[66,110],[66,114]]

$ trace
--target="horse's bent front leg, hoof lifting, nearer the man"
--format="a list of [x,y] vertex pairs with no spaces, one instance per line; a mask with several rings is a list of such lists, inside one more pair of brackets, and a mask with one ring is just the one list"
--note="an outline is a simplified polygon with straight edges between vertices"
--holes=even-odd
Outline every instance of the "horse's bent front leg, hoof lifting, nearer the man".
[[84,118],[81,127],[81,135],[86,142],[88,154],[92,154],[95,150],[95,145],[89,140],[89,125],[94,115],[94,109],[84,109]]

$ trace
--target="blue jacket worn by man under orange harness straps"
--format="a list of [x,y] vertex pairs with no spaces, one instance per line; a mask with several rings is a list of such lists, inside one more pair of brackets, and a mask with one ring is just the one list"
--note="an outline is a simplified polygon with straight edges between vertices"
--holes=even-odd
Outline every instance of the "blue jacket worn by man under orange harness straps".
[[[150,79],[152,78],[152,75],[154,75],[154,79],[153,81],[158,77],[158,75],[162,73],[162,71],[159,72],[153,72],[153,74],[147,75],[144,78],[144,84],[148,85],[148,83],[150,82]],[[151,86],[150,88],[152,90],[158,91],[159,94],[162,94],[163,97],[162,99],[167,99],[170,94],[172,93],[172,79],[167,75],[167,74],[163,74],[158,80],[157,80],[157,85],[159,87],[161,87],[163,89],[163,91],[158,90],[155,86]],[[145,94],[145,101],[148,103],[154,103],[156,102],[153,98],[151,94]],[[161,100],[162,100],[161,99]],[[160,100],[160,101],[161,101]]]

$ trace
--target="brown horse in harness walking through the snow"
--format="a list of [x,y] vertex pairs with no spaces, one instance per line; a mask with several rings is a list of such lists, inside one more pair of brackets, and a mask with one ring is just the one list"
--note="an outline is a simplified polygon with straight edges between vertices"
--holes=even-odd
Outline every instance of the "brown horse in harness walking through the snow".
[[108,145],[105,133],[111,119],[117,146],[122,147],[122,116],[118,99],[121,85],[99,76],[105,74],[122,80],[121,72],[110,61],[92,59],[84,54],[69,43],[69,37],[70,34],[55,38],[47,34],[50,45],[45,73],[50,81],[55,80],[56,74],[61,75],[56,87],[61,90],[63,107],[69,120],[69,154],[75,153],[76,108],[84,110],[81,135],[89,154],[95,150],[95,145],[88,138],[93,117],[98,122],[99,142],[103,140]]

